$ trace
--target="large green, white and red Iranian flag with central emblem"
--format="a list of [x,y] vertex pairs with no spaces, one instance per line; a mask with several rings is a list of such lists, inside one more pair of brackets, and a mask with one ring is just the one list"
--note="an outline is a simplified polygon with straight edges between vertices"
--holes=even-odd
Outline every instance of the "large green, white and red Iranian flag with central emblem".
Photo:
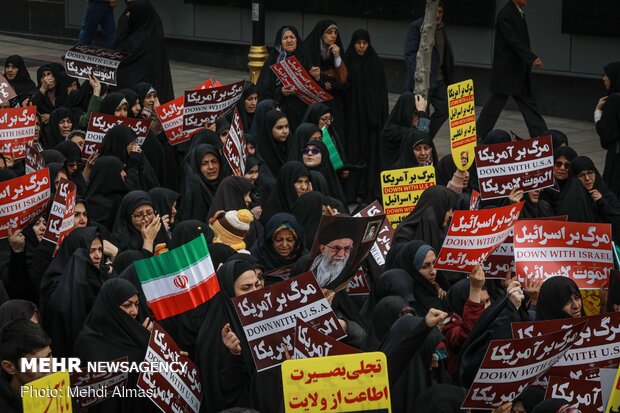
[[220,291],[204,235],[172,251],[135,262],[158,320],[194,309]]

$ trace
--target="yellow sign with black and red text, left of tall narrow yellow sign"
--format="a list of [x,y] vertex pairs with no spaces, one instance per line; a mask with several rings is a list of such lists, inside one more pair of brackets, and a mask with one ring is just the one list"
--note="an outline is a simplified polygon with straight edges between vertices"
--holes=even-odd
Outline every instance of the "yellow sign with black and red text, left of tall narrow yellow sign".
[[433,166],[381,172],[383,209],[392,227],[398,227],[398,224],[415,209],[422,192],[433,185],[435,185]]

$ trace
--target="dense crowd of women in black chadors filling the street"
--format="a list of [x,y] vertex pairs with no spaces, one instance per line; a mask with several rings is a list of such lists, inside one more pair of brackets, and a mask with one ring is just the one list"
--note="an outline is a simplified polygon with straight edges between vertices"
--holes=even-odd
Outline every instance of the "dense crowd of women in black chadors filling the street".
[[[412,27],[419,31],[419,22]],[[33,81],[22,57],[8,57],[4,76],[18,95],[11,105],[37,109],[33,145],[49,168],[52,197],[64,178],[76,185],[77,200],[74,229],[57,254],[42,240],[46,214],[0,240],[0,410],[21,412],[20,386],[40,376],[21,371],[20,358],[142,361],[157,321],[200,369],[201,411],[283,411],[280,370],[256,372],[231,298],[281,281],[270,276],[273,270],[291,266],[291,277],[303,272],[295,264],[307,261],[322,216],[353,215],[380,201],[379,176],[388,169],[432,165],[437,185],[422,193],[396,229],[385,264],[377,266],[372,257],[363,263],[367,298],[349,296],[346,283],[321,287],[348,334],[343,341],[386,353],[392,411],[458,412],[487,344],[512,338],[510,322],[583,316],[582,292],[570,278],[521,285],[510,276],[485,279],[480,266],[469,274],[434,269],[453,211],[469,209],[478,189],[475,165],[461,171],[451,154],[440,157],[435,149],[434,139],[447,139],[438,134],[447,116],[441,89],[445,94],[446,84],[458,80],[447,34],[441,25],[438,31],[432,105],[405,92],[389,111],[385,71],[368,31],[356,30],[345,48],[332,20],[317,23],[304,39],[295,27],[281,27],[256,85],[246,82],[237,104],[247,142],[241,176],[222,152],[230,116],[205,124],[186,142],[169,143],[155,109],[174,93],[158,43],[161,20],[148,1],[129,3],[110,43],[129,54],[118,87],[94,76],[80,83],[54,63],[39,67]],[[415,42],[408,37],[408,44]],[[307,105],[282,85],[270,65],[290,56],[333,100]],[[529,71],[536,56],[525,58]],[[611,223],[613,240],[620,241],[620,62],[604,73],[607,94],[596,105],[592,131],[608,150],[604,173],[572,149],[564,133],[541,131],[553,138],[555,187],[516,190],[480,208],[524,201],[521,218],[567,215],[569,221]],[[132,129],[117,125],[83,161],[92,113],[151,119],[150,131],[139,145]],[[478,144],[511,139],[493,129],[478,136]],[[0,156],[0,182],[24,174],[23,160]],[[191,311],[154,320],[133,263],[198,236],[208,242],[220,292]],[[324,247],[331,254],[325,265],[342,261],[351,249]],[[612,291],[601,311],[618,310],[620,294]],[[472,340],[480,328],[484,341]],[[127,386],[136,380],[130,374]],[[496,411],[557,412],[567,404],[543,398],[542,390],[528,388]],[[115,397],[88,412],[157,410],[144,398]]]

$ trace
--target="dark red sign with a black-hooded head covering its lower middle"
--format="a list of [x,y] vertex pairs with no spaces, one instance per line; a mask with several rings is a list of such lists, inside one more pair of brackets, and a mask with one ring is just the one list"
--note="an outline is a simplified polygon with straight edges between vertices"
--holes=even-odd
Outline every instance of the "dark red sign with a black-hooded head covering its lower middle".
[[106,133],[116,125],[125,125],[136,133],[138,144],[142,145],[149,133],[151,126],[150,119],[119,118],[114,115],[103,113],[93,113],[88,120],[84,148],[82,149],[82,159],[88,159],[90,155],[97,152],[101,147],[101,142]]

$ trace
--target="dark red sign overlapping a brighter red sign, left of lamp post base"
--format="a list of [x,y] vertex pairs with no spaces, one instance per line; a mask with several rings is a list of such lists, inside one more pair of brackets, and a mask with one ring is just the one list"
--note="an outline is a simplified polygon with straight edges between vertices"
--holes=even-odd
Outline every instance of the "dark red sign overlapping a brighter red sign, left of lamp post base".
[[183,130],[201,128],[227,115],[241,99],[244,85],[245,81],[241,80],[230,85],[186,91],[183,101]]

